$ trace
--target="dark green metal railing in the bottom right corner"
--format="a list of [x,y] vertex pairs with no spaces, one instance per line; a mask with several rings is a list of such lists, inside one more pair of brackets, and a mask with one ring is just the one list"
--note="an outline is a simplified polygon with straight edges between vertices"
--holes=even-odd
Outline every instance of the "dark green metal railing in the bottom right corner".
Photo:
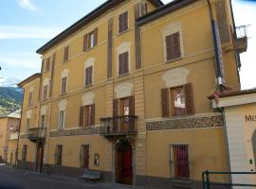
[[213,172],[205,171],[202,173],[203,189],[210,189],[210,186],[256,186],[250,183],[230,183],[230,182],[212,182],[210,181],[210,175],[256,175],[256,172]]

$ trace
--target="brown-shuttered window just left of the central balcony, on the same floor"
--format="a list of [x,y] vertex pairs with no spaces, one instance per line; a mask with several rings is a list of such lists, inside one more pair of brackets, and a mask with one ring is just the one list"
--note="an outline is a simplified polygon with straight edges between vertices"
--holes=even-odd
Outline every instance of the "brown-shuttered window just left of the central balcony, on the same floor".
[[95,124],[95,105],[80,108],[80,126],[93,126]]

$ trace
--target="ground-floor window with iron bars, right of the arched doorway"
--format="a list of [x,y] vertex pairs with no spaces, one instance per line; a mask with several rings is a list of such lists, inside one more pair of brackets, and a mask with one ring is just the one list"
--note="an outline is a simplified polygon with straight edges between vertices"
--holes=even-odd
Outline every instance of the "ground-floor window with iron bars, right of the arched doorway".
[[171,163],[173,180],[190,180],[190,161],[188,145],[171,146]]

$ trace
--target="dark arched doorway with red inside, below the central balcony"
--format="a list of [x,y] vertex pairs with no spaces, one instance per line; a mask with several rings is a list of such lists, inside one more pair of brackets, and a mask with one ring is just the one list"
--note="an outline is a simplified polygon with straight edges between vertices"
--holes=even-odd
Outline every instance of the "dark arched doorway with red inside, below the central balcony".
[[129,141],[120,141],[116,152],[117,182],[133,184],[133,148]]

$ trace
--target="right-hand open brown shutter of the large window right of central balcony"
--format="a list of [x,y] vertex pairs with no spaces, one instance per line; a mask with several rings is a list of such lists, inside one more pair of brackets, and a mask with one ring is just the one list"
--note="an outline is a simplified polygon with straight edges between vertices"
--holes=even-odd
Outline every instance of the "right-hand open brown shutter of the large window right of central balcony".
[[185,98],[186,98],[186,114],[193,114],[193,97],[192,97],[192,83],[184,85]]

